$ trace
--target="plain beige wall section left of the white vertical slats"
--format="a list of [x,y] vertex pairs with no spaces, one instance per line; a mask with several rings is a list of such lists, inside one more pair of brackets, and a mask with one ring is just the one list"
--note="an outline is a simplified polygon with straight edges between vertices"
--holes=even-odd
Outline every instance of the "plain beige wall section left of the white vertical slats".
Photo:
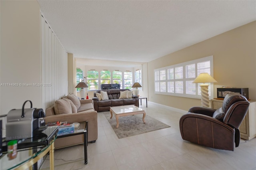
[[[42,83],[38,2],[1,1],[0,8],[0,83]],[[21,109],[26,100],[42,107],[42,87],[1,86],[0,91],[1,115]]]

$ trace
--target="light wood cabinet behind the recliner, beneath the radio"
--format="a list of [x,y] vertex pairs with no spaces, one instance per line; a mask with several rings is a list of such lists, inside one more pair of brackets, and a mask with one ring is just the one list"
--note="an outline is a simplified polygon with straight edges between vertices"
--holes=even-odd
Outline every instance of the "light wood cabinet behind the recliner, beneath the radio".
[[[222,107],[222,102],[223,100],[212,99],[211,107],[213,109],[219,109]],[[248,112],[239,127],[240,137],[246,140],[256,137],[256,101],[250,100],[249,102]]]

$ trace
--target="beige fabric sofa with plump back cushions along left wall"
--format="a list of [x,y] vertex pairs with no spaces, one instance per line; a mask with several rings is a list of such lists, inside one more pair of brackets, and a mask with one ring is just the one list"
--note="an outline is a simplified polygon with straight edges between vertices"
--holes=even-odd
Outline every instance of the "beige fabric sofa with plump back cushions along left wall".
[[[45,123],[68,121],[68,123],[88,121],[88,142],[95,142],[98,138],[97,111],[94,111],[92,99],[79,100],[74,94],[55,101],[54,105],[46,109]],[[54,142],[55,148],[63,148],[84,142],[83,134],[58,138]]]

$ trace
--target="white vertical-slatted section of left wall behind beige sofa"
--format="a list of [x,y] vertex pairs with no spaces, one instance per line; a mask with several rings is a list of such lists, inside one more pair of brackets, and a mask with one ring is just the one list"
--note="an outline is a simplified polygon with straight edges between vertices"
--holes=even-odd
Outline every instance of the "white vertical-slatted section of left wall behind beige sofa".
[[68,53],[41,15],[42,109],[68,95]]

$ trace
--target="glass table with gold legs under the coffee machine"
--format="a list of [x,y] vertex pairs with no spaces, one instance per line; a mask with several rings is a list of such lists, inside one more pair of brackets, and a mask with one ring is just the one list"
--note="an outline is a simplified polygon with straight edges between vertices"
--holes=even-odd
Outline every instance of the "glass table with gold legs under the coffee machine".
[[[36,162],[50,152],[50,170],[54,169],[54,141],[57,137],[57,127],[47,127],[33,138],[18,140],[17,157],[8,160],[7,142],[3,138],[3,155],[0,157],[0,169],[26,169],[34,166],[37,169]],[[35,166],[36,165],[36,166]]]

